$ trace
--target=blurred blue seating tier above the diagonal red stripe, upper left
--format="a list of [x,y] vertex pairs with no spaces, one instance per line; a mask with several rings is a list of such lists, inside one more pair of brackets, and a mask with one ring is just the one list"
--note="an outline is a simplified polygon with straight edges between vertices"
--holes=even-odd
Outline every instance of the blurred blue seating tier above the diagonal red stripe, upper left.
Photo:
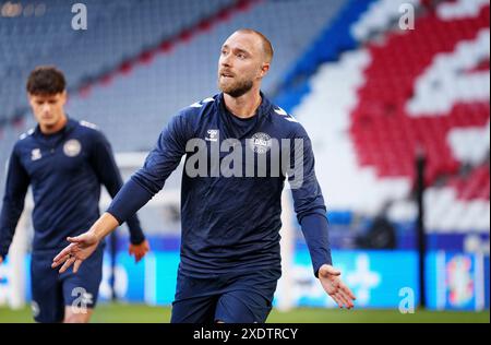
[[[25,8],[27,3],[24,2]],[[2,118],[26,112],[25,97],[20,91],[24,90],[25,79],[35,66],[58,66],[67,71],[71,88],[76,90],[235,2],[93,0],[84,3],[89,14],[87,31],[71,28],[72,4],[67,1],[47,2],[45,13],[39,16],[1,17],[5,63],[0,73],[10,81],[1,90],[9,100]]]

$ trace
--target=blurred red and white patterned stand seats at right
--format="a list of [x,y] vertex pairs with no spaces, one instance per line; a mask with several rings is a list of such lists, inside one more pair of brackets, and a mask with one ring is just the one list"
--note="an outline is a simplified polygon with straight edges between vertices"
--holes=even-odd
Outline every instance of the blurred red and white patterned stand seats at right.
[[489,234],[489,2],[419,10],[417,29],[402,33],[396,23],[380,34],[380,23],[399,14],[387,1],[371,3],[351,33],[378,38],[310,67],[304,85],[283,96],[314,140],[331,210],[375,215],[396,201],[393,219],[414,219],[408,200],[421,147],[429,230]]

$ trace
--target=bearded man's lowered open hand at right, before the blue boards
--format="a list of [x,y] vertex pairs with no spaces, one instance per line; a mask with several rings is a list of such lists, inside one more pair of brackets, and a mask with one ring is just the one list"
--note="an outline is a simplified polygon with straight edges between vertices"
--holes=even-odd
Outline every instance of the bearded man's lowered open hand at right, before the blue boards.
[[336,301],[339,308],[346,307],[351,309],[355,307],[354,300],[357,298],[339,276],[340,271],[332,265],[324,264],[319,269],[319,279],[324,290]]

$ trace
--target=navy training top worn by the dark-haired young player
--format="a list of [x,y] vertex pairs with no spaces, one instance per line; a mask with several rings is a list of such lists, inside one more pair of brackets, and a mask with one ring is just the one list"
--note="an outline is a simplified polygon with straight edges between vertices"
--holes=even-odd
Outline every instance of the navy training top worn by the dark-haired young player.
[[[0,214],[0,255],[5,257],[24,209],[28,186],[34,197],[33,250],[64,248],[68,236],[86,231],[99,217],[100,185],[111,197],[122,186],[111,147],[97,128],[69,119],[57,133],[39,126],[15,143]],[[144,240],[136,215],[128,217],[130,240]]]

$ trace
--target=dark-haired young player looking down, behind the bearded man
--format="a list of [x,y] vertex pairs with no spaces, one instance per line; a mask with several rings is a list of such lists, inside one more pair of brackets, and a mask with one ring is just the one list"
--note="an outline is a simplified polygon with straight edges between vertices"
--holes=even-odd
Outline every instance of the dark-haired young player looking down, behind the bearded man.
[[[38,124],[21,135],[9,160],[0,214],[0,264],[8,254],[31,185],[35,203],[31,261],[34,319],[88,322],[103,275],[104,243],[79,274],[58,275],[50,264],[67,237],[85,231],[98,218],[100,185],[115,197],[122,179],[105,135],[92,123],[67,117],[61,71],[39,67],[31,73],[26,88]],[[128,225],[130,253],[140,261],[148,243],[135,215],[128,218]]]

